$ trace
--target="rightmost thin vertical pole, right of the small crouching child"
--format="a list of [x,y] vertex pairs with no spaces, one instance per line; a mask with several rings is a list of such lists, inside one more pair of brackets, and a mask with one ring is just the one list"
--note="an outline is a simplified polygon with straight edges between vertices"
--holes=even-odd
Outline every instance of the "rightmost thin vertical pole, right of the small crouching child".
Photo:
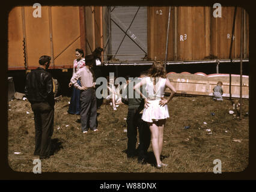
[[242,119],[242,83],[243,83],[243,8],[241,8],[241,34],[240,34],[240,119]]

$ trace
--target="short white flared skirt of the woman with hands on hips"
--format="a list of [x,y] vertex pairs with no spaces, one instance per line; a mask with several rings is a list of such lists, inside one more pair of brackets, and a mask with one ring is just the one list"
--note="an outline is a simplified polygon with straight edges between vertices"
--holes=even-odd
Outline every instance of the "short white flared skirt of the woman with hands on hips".
[[146,109],[144,107],[141,119],[146,122],[153,122],[159,119],[169,118],[168,106],[159,105],[160,100],[148,100],[149,106]]

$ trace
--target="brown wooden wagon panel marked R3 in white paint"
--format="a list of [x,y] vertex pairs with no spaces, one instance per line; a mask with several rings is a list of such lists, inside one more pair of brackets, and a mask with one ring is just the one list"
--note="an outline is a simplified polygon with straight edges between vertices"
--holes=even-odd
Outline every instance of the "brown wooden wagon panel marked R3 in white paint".
[[210,55],[210,8],[178,7],[177,59],[203,60]]

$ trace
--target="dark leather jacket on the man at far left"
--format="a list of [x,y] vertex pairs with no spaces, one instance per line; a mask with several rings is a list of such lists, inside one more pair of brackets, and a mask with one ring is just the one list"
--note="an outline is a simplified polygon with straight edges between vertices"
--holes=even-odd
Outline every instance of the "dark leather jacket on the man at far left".
[[44,102],[54,106],[52,76],[44,68],[38,67],[26,76],[25,94],[30,103]]

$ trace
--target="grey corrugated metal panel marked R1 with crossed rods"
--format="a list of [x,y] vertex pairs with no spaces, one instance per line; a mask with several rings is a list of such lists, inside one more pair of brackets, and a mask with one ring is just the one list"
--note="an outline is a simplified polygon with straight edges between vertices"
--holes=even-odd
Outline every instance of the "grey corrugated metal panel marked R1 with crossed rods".
[[[136,14],[139,8],[138,13]],[[111,7],[111,53],[115,59],[120,61],[142,61],[147,53],[147,7]],[[133,17],[135,16],[133,20]],[[127,35],[124,37],[124,32],[118,27],[115,22],[126,31],[130,24],[129,36],[135,40],[133,42]],[[123,40],[124,38],[124,40]],[[123,40],[123,43],[121,41]],[[121,46],[120,46],[121,44]],[[120,46],[119,50],[118,47]],[[117,52],[118,50],[118,52]],[[143,51],[144,50],[144,51]]]

